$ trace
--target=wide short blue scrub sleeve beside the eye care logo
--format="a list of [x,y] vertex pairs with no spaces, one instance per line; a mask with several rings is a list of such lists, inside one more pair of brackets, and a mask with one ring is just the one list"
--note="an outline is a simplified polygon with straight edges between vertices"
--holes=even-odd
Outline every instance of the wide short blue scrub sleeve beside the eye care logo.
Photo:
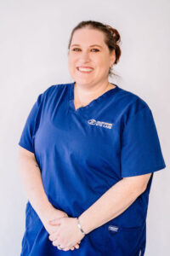
[[122,177],[156,172],[166,167],[155,121],[148,106],[128,119],[121,141]]

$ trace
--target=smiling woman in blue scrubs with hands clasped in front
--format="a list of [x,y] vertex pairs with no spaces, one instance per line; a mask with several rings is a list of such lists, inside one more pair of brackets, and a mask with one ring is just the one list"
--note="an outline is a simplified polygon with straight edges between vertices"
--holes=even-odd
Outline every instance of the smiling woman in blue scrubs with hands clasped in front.
[[147,103],[108,81],[119,43],[111,26],[79,23],[74,82],[48,87],[31,109],[19,143],[21,255],[144,255],[153,172],[166,165]]

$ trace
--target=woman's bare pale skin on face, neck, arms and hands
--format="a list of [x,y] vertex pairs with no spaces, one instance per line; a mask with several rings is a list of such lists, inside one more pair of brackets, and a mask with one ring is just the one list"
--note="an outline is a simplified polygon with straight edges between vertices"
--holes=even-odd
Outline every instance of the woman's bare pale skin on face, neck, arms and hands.
[[[91,45],[94,44],[100,47],[92,47]],[[105,91],[114,88],[108,81],[108,72],[115,60],[115,51],[109,52],[102,32],[82,28],[74,33],[69,50],[69,70],[71,77],[76,81],[74,88],[76,109],[88,105]],[[77,71],[77,67],[80,66],[93,67],[93,72],[80,73]],[[55,247],[60,245],[64,251],[79,248],[84,235],[77,226],[77,219],[68,217],[66,212],[54,208],[48,201],[35,155],[22,147],[19,148],[19,170],[26,195],[48,231],[49,240]],[[108,189],[98,201],[79,216],[82,230],[88,234],[124,212],[144,192],[150,175],[151,173],[123,177]]]

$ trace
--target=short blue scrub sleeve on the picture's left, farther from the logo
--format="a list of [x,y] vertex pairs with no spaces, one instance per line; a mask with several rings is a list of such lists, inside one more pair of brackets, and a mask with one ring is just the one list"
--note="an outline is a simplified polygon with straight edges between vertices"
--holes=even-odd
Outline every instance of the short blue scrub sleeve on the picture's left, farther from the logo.
[[41,102],[42,102],[42,94],[37,97],[37,102],[34,103],[31,108],[31,112],[29,113],[24,129],[21,133],[19,145],[27,150],[34,152],[34,143],[33,139],[35,133],[37,131],[37,126],[39,123],[40,115],[41,115]]

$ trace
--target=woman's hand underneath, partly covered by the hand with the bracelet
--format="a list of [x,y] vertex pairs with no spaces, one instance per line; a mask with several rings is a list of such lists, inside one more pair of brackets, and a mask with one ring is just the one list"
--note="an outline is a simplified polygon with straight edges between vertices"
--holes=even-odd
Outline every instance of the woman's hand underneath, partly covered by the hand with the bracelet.
[[[45,214],[42,215],[42,217],[40,216],[40,218],[42,220],[42,224],[43,224],[44,228],[48,231],[49,235],[56,232],[58,227],[48,224],[48,221],[53,220],[55,218],[65,218],[65,217],[68,217],[68,214],[66,212],[63,212],[61,210],[57,210],[53,206],[50,207],[50,209],[48,211],[46,211]],[[70,249],[71,250],[74,250],[75,248],[78,249],[80,242],[81,241],[79,241],[75,246],[71,247]]]

